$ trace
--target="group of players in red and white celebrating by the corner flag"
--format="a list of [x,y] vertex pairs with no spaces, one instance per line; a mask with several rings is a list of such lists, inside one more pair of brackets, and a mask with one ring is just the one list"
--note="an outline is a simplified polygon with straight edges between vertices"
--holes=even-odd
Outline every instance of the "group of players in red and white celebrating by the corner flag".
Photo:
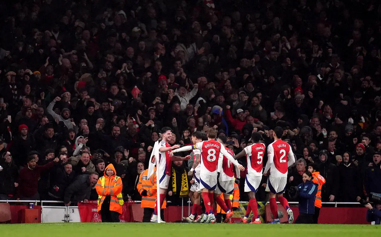
[[[234,190],[234,182],[236,173],[239,177],[240,171],[245,168],[239,164],[237,159],[247,157],[247,172],[245,177],[245,192],[248,192],[249,205],[245,216],[241,219],[242,223],[248,222],[248,217],[253,212],[253,224],[260,224],[258,215],[258,206],[255,199],[255,193],[262,180],[262,175],[268,175],[266,191],[270,193],[270,210],[274,221],[271,223],[279,224],[277,202],[287,210],[288,222],[294,220],[293,212],[290,209],[287,200],[283,197],[287,183],[288,167],[295,162],[294,154],[290,145],[283,142],[280,138],[283,135],[282,127],[275,127],[274,142],[267,147],[267,164],[263,171],[263,155],[266,146],[260,143],[261,135],[253,132],[251,135],[252,145],[245,147],[239,154],[225,148],[227,138],[224,134],[217,137],[217,130],[209,128],[207,136],[200,131],[192,134],[192,146],[179,145],[170,146],[168,142],[171,140],[172,131],[169,127],[162,129],[163,140],[160,142],[159,148],[159,171],[160,171],[160,207],[165,198],[168,189],[168,181],[170,177],[170,168],[172,161],[188,160],[191,156],[178,157],[174,153],[182,151],[191,151],[194,154],[194,163],[189,170],[188,175],[193,177],[193,184],[190,191],[193,193],[191,199],[193,202],[192,213],[186,217],[188,222],[214,223],[216,217],[214,215],[213,205],[215,202],[226,212],[225,223],[229,223],[233,215],[230,194]],[[165,159],[162,159],[165,157]],[[235,170],[234,170],[235,169]],[[224,200],[221,198],[223,194]],[[205,213],[202,211],[201,196],[205,205]],[[157,222],[157,207],[152,215],[151,222]],[[163,221],[161,221],[163,222]]]

